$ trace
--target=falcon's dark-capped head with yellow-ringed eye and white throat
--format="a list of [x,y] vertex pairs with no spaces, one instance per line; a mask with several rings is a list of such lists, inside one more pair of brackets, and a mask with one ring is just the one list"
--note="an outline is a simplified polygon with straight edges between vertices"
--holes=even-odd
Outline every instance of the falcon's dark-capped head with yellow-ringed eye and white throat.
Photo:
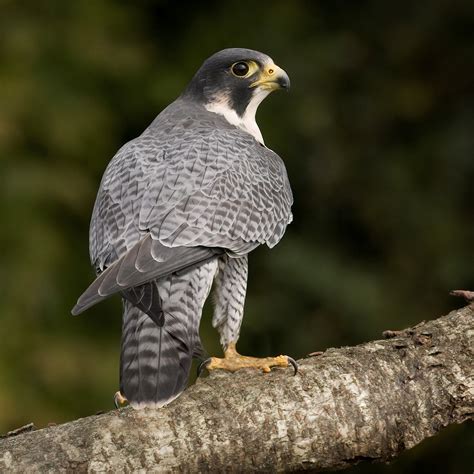
[[263,143],[255,123],[257,107],[270,92],[289,87],[286,72],[266,54],[230,48],[204,61],[182,97],[224,115]]

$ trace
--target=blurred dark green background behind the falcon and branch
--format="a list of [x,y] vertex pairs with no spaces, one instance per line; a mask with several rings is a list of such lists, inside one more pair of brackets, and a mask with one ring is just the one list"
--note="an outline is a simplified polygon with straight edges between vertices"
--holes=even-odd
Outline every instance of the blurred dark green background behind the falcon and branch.
[[[472,0],[0,8],[0,432],[112,408],[119,298],[69,313],[93,278],[95,193],[115,151],[225,47],[266,52],[292,80],[258,113],[295,218],[251,256],[243,353],[361,343],[474,289]],[[218,353],[210,309],[202,337]],[[471,472],[473,438],[451,427],[354,472]]]

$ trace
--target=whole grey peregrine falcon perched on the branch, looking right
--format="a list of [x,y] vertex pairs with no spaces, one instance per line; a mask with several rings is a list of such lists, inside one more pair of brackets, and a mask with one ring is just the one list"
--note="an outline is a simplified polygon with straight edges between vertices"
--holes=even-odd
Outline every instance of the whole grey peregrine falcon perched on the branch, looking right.
[[212,324],[225,357],[207,359],[207,369],[291,363],[296,372],[287,356],[236,351],[247,256],[275,246],[292,220],[285,166],[255,122],[262,100],[289,86],[267,55],[220,51],[107,166],[90,225],[97,278],[72,313],[122,297],[116,403],[162,406],[185,389],[193,357],[204,358],[199,323],[213,283]]

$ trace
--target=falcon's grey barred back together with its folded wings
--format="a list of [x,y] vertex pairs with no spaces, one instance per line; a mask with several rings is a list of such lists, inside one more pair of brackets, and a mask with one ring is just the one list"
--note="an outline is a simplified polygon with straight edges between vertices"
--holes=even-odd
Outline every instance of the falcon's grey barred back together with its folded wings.
[[[262,243],[272,247],[291,222],[291,204],[278,155],[221,116],[177,101],[122,147],[104,174],[90,252],[98,271],[114,269],[99,276],[108,282],[104,295],[98,291],[103,281],[94,282],[75,312],[95,304],[94,292],[102,299],[165,276],[154,261],[164,268],[166,260],[167,274],[182,270],[183,248],[194,248],[196,255],[188,252],[186,261],[192,266],[206,259],[203,249],[243,255]],[[147,236],[151,244],[141,249],[140,263],[136,246]],[[154,258],[153,245],[166,256]],[[149,273],[136,271],[143,262],[153,267]],[[136,279],[127,278],[126,286],[120,278],[114,283],[111,276],[120,273]]]

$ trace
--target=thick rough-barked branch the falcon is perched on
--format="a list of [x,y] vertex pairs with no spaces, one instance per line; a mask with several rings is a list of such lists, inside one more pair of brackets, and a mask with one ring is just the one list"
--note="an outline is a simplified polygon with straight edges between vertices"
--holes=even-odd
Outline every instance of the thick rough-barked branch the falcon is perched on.
[[114,410],[0,440],[8,472],[275,472],[388,461],[474,418],[474,305],[299,373],[217,371],[160,410]]

